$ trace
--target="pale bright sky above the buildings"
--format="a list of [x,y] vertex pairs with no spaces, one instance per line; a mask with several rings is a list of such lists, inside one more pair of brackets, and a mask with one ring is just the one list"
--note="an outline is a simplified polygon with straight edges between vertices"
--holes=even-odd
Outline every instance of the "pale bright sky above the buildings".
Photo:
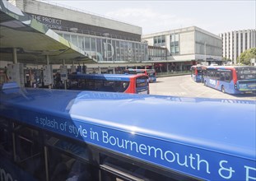
[[256,28],[256,0],[47,1],[140,26],[143,35],[188,26],[198,26],[216,35]]

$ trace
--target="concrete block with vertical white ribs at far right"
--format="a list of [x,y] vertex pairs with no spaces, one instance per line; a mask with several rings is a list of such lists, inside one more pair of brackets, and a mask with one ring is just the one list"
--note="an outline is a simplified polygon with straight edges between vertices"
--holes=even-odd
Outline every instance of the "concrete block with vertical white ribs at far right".
[[247,49],[256,48],[256,29],[235,30],[222,33],[223,58],[230,59],[232,63],[238,64],[240,53]]

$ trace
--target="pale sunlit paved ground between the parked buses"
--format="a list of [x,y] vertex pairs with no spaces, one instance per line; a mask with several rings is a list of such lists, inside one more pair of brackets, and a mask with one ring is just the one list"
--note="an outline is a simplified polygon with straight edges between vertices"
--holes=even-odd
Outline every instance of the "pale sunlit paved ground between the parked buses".
[[235,100],[256,100],[256,95],[228,95],[219,90],[194,82],[190,75],[159,77],[156,83],[150,83],[151,95],[174,95],[183,97],[205,97]]

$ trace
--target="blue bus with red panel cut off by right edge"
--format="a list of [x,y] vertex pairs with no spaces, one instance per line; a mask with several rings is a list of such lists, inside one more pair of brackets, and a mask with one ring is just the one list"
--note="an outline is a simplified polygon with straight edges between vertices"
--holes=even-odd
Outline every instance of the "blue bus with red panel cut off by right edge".
[[203,82],[228,94],[256,92],[256,67],[209,66],[203,70]]

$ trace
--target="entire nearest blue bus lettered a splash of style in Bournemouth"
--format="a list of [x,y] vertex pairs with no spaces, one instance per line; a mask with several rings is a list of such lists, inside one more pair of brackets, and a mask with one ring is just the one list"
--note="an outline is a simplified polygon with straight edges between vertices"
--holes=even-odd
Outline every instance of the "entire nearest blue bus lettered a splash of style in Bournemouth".
[[253,100],[0,91],[2,180],[256,179]]

